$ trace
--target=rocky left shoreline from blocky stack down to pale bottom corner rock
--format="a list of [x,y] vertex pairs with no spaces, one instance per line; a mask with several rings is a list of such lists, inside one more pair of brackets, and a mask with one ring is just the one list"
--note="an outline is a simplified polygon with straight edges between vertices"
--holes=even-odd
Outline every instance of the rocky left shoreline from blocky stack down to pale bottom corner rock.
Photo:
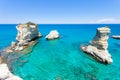
[[[0,52],[0,80],[22,80],[20,77],[13,75],[7,64],[12,59],[8,57],[11,54],[29,53],[38,42],[38,38],[42,37],[38,30],[38,25],[32,22],[26,24],[19,24],[17,27],[18,34],[16,42],[11,42],[11,45]],[[4,74],[3,74],[4,72]]]

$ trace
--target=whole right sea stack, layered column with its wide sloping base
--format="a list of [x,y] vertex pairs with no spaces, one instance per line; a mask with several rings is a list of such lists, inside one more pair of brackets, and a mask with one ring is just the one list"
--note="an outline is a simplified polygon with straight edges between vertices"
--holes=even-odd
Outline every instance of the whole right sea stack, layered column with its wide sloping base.
[[88,46],[82,45],[81,49],[83,52],[91,55],[96,60],[110,64],[113,62],[111,55],[109,54],[108,48],[108,38],[109,38],[110,28],[101,27],[97,28],[97,33],[93,40],[89,43]]

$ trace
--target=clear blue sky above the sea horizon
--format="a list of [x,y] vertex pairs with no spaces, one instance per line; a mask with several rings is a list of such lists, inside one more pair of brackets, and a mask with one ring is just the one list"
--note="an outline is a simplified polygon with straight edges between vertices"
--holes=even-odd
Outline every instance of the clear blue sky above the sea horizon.
[[0,0],[0,23],[120,23],[120,0]]

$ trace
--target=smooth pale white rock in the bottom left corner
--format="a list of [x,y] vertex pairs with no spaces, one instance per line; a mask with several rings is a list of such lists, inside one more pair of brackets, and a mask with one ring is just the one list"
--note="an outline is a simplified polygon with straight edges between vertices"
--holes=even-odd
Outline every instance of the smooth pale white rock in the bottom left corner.
[[7,64],[0,64],[0,80],[23,80],[22,78],[13,75],[9,69]]

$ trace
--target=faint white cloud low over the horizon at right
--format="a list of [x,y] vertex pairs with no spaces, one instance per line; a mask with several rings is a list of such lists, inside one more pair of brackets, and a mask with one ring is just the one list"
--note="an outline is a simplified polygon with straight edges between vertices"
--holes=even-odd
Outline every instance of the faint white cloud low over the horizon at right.
[[100,24],[105,24],[105,23],[108,23],[108,24],[118,24],[120,23],[120,19],[113,19],[113,18],[105,18],[105,19],[99,19],[99,20],[96,20],[96,21],[91,21],[90,23],[100,23]]

